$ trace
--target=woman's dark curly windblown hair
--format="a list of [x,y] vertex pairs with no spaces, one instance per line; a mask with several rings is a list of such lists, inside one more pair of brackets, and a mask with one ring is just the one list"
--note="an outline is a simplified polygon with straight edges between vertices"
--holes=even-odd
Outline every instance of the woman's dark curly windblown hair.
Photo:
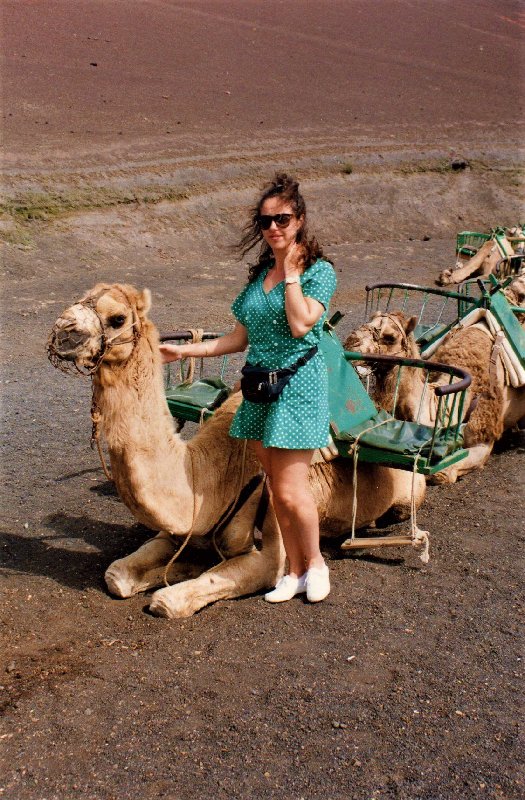
[[275,261],[270,245],[263,238],[259,223],[263,203],[270,197],[279,197],[283,202],[289,203],[295,216],[297,218],[303,217],[303,224],[296,235],[296,242],[301,245],[302,249],[303,269],[308,269],[318,258],[329,260],[324,256],[315,236],[308,235],[306,205],[302,194],[299,192],[298,182],[284,172],[277,173],[273,181],[266,184],[257,204],[251,209],[250,221],[244,227],[244,234],[240,242],[234,246],[234,250],[241,260],[250,250],[258,244],[261,245],[257,261],[254,264],[250,264],[248,268],[249,283],[253,283],[264,269],[272,267]]

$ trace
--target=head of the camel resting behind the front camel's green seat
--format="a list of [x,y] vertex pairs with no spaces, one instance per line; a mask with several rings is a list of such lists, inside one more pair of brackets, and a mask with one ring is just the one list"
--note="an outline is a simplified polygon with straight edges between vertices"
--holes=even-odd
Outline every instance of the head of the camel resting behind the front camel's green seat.
[[417,317],[406,317],[401,311],[376,311],[369,322],[350,334],[344,348],[371,355],[411,357],[413,342],[409,337],[416,323]]

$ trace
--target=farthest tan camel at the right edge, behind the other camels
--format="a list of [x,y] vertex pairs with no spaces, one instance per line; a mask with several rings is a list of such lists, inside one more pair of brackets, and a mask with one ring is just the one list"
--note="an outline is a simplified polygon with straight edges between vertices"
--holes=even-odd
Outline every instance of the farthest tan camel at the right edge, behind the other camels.
[[436,283],[438,286],[448,286],[451,283],[461,283],[468,278],[485,278],[487,275],[496,272],[496,267],[501,259],[510,259],[514,255],[523,255],[525,250],[525,240],[523,231],[519,227],[509,228],[505,234],[488,239],[465,263],[458,259],[455,269],[443,270]]

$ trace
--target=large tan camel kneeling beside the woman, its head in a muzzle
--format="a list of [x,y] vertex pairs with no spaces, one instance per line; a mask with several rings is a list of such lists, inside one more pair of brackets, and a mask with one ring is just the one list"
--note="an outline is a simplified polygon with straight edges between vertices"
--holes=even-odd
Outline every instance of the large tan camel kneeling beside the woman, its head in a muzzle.
[[[254,544],[254,519],[261,483],[232,519],[223,522],[217,546],[224,559],[205,570],[168,562],[190,535],[209,542],[241,486],[260,475],[247,446],[228,435],[240,402],[232,395],[188,442],[174,431],[164,397],[158,333],[148,319],[150,293],[122,284],[97,284],[56,321],[48,342],[52,363],[71,366],[93,381],[92,417],[101,420],[112,476],[133,516],[158,535],[105,573],[111,594],[126,598],[156,589],[149,609],[167,618],[187,617],[219,599],[259,592],[275,585],[285,557],[270,504],[262,547]],[[245,458],[243,452],[245,450]],[[351,460],[316,460],[310,469],[323,536],[351,527]],[[425,482],[417,475],[414,498],[423,502]],[[356,527],[389,513],[406,519],[412,475],[376,465],[359,466]],[[170,584],[163,588],[164,573]]]

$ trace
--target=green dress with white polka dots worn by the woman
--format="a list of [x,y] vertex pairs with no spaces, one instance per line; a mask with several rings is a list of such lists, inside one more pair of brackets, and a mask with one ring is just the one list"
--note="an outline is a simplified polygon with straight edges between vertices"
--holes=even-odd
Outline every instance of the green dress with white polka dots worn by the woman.
[[[248,331],[248,363],[280,369],[319,344],[336,277],[332,265],[322,260],[301,275],[304,296],[318,300],[326,310],[306,336],[294,339],[286,318],[284,281],[265,292],[267,274],[263,270],[243,289],[232,312]],[[257,439],[264,447],[288,450],[326,447],[328,433],[328,376],[320,351],[292,376],[274,403],[243,399],[230,429],[230,436],[238,439]]]

